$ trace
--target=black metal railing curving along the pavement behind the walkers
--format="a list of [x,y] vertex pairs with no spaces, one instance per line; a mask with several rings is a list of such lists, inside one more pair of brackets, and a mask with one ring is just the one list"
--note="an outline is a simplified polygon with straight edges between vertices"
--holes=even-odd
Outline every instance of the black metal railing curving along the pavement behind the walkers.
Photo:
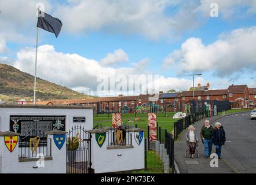
[[177,139],[181,132],[196,121],[209,117],[206,111],[196,112],[174,122],[174,139]]

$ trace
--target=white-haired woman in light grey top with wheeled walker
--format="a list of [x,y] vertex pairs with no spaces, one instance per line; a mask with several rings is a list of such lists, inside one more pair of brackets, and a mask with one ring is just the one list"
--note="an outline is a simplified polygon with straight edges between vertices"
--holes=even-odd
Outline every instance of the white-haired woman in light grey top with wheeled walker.
[[193,125],[190,125],[188,131],[186,131],[186,143],[188,143],[189,153],[194,154],[195,147],[198,146],[198,135],[196,135]]

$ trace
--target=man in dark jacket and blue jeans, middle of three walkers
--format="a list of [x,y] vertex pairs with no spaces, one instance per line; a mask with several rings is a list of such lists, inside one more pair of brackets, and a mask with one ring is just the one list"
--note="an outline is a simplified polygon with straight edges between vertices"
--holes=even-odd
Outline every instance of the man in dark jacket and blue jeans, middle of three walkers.
[[211,149],[213,148],[213,127],[211,127],[209,120],[204,121],[204,125],[200,131],[200,137],[204,144],[204,158],[209,158],[211,155]]

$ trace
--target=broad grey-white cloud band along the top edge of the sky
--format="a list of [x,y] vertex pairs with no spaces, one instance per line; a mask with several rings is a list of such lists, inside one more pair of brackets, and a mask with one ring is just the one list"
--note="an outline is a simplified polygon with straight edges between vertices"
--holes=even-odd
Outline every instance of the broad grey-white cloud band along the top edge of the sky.
[[[175,39],[189,29],[199,27],[209,16],[210,0],[9,0],[0,1],[0,36],[6,42],[34,42],[36,4],[63,21],[63,31],[72,35],[103,31],[112,34],[137,34],[151,40]],[[222,17],[256,13],[254,0],[216,0]],[[237,9],[242,9],[237,13]]]

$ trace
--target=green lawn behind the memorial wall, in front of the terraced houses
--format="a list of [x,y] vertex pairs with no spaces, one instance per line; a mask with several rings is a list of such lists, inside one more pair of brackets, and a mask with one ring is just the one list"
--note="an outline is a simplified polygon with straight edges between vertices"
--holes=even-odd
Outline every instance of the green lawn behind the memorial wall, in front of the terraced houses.
[[[158,127],[161,127],[161,129],[167,129],[167,132],[171,132],[173,130],[173,123],[176,119],[173,119],[173,115],[175,113],[174,112],[168,112],[166,113],[166,116],[164,115],[164,113],[158,113],[156,114],[156,119],[158,121]],[[123,123],[125,123],[127,120],[131,120],[133,121],[135,117],[134,113],[127,113],[127,114],[122,114],[122,121]],[[136,114],[136,117],[140,117],[141,120],[140,121],[136,121],[134,122],[134,126],[135,124],[137,124],[137,128],[141,128],[144,129],[144,133],[145,133],[145,138],[147,138],[148,136],[148,114],[144,114],[144,113],[138,113]],[[98,116],[96,116],[96,114],[93,117],[93,123],[94,125],[96,124],[102,124],[104,127],[111,127],[112,125],[112,114],[98,114]],[[131,123],[129,123],[131,124]]]

